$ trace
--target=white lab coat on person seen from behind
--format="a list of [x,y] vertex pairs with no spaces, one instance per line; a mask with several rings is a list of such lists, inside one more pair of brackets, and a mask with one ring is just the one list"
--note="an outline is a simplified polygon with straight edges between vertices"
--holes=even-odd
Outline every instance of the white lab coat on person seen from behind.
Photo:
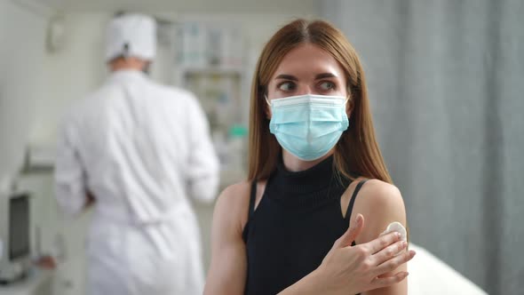
[[218,157],[195,97],[118,71],[61,126],[56,196],[75,214],[89,190],[90,294],[202,294],[200,232],[188,196],[212,201]]

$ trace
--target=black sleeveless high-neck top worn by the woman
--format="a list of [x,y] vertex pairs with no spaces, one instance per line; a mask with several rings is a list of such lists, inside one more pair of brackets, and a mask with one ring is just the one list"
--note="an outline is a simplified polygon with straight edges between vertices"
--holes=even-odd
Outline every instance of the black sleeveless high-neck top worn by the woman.
[[274,295],[319,267],[349,227],[358,184],[342,217],[340,197],[351,183],[334,173],[333,156],[306,171],[287,171],[281,162],[267,179],[254,211],[256,181],[242,237],[248,273],[245,294]]

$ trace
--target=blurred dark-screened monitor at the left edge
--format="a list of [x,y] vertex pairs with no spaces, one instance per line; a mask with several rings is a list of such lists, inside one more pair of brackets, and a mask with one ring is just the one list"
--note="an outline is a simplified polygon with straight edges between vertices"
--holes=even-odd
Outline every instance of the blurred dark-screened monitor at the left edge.
[[12,283],[28,274],[31,263],[30,194],[0,195],[0,283]]

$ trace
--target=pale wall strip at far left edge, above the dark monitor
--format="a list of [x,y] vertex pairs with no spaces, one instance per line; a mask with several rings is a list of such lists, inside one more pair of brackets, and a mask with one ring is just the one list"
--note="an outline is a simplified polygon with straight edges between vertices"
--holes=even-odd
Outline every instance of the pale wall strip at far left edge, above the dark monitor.
[[20,170],[35,105],[43,99],[46,20],[0,0],[0,182]]

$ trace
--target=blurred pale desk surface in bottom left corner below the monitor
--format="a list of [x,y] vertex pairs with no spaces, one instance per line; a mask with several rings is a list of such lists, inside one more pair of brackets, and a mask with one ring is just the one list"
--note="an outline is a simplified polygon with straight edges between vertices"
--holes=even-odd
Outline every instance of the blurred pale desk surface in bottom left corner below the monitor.
[[52,295],[52,270],[35,268],[23,280],[0,285],[0,295]]

